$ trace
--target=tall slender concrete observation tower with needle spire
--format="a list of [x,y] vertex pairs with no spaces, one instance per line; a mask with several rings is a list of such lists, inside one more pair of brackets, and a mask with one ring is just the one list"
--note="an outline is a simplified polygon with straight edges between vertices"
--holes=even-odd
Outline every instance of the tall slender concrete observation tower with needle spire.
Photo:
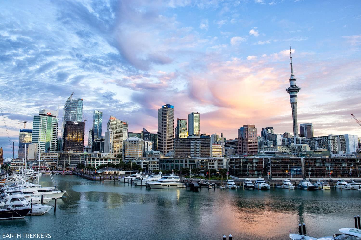
[[291,58],[291,78],[288,80],[290,81],[290,87],[288,87],[286,91],[290,94],[290,102],[292,108],[292,122],[293,122],[293,137],[298,137],[297,94],[301,88],[296,86],[296,78],[295,75],[293,75],[291,45],[290,45],[290,58]]

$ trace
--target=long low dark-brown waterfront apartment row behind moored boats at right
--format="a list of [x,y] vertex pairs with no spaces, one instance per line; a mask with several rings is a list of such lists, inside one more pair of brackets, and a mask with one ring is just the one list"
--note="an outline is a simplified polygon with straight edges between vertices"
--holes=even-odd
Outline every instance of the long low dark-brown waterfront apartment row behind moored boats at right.
[[[229,172],[236,177],[361,178],[361,158],[347,157],[231,157]],[[247,175],[248,172],[248,175]]]

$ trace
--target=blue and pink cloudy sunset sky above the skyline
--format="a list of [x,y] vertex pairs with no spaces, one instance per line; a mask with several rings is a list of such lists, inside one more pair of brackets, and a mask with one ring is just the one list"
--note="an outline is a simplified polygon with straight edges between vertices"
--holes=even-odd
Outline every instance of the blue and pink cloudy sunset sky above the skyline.
[[[83,98],[128,131],[157,131],[157,110],[200,113],[201,133],[237,137],[255,124],[292,133],[285,89],[290,45],[298,123],[314,135],[361,127],[361,1],[2,1],[0,146],[12,155],[22,121]],[[6,133],[4,120],[8,127]],[[61,120],[60,120],[61,124]],[[59,132],[60,136],[60,132]],[[17,147],[15,147],[17,151]],[[15,154],[16,155],[16,154]]]

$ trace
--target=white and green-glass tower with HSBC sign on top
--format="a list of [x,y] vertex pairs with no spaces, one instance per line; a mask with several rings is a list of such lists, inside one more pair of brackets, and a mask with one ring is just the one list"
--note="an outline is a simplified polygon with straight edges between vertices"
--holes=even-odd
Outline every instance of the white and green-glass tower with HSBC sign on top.
[[38,144],[38,150],[45,153],[56,151],[58,137],[59,111],[43,109],[38,116],[34,116],[32,123],[31,143]]

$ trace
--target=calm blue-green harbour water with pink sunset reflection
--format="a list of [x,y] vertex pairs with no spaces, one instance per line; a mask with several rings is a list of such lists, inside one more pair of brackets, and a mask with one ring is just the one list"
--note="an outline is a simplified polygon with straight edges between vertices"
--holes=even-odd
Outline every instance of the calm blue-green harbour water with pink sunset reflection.
[[[321,237],[354,227],[361,214],[361,191],[273,189],[198,192],[146,189],[120,182],[54,176],[66,197],[43,216],[1,221],[3,233],[47,233],[52,239],[288,240],[306,223],[307,235]],[[49,176],[40,178],[51,186]],[[54,204],[52,200],[49,204]],[[228,238],[228,237],[227,237]]]

